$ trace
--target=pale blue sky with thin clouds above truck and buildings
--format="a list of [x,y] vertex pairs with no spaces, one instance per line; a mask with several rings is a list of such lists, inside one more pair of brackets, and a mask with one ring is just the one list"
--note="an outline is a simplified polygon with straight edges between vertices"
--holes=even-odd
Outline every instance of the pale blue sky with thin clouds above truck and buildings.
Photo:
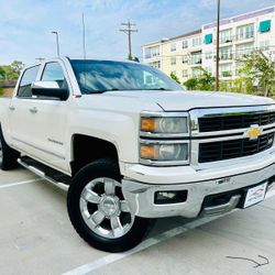
[[[141,45],[194,31],[216,20],[217,0],[0,0],[0,64],[34,63],[36,57],[55,56],[59,32],[61,53],[81,54],[81,12],[86,16],[87,56],[124,58],[127,36],[120,23],[131,19],[133,54]],[[273,6],[274,0],[221,0],[221,16]]]

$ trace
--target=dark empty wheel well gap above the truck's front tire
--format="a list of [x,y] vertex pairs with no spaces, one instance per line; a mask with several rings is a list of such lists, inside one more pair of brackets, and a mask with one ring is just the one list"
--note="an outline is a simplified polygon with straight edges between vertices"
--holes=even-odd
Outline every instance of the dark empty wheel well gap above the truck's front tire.
[[82,134],[73,136],[73,161],[70,162],[73,175],[88,163],[103,157],[118,161],[118,151],[113,143]]

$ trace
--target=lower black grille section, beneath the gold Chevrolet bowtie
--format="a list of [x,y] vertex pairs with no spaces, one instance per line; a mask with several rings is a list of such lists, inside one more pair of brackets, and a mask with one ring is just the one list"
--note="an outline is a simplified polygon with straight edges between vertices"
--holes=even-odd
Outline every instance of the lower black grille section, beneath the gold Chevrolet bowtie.
[[263,134],[257,140],[238,139],[199,144],[199,163],[224,161],[254,155],[272,147],[274,133]]

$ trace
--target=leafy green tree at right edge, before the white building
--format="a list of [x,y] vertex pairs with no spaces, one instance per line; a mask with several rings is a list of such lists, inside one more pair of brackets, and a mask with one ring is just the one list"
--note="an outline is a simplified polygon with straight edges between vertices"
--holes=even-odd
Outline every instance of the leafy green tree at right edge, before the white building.
[[261,50],[254,50],[244,55],[240,61],[239,69],[243,78],[248,78],[253,86],[262,90],[262,95],[268,97],[275,86],[275,62]]

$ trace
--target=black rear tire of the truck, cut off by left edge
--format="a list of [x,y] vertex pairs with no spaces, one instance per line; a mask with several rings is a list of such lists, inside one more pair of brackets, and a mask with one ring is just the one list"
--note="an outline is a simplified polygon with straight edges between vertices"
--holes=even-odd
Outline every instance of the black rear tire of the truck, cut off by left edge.
[[20,153],[11,148],[4,141],[2,129],[0,125],[0,151],[2,154],[2,160],[0,160],[0,167],[2,170],[10,170],[18,167],[18,158]]

